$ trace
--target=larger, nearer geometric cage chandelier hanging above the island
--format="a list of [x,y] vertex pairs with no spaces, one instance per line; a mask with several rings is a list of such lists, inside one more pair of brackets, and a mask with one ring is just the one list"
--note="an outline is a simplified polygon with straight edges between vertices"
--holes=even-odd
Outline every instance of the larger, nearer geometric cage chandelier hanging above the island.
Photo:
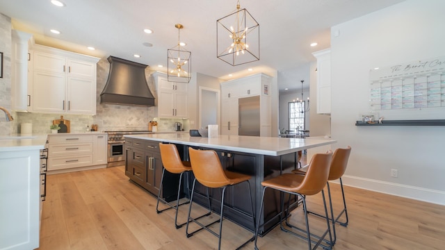
[[217,57],[236,66],[259,60],[259,24],[248,10],[236,10],[216,20]]

